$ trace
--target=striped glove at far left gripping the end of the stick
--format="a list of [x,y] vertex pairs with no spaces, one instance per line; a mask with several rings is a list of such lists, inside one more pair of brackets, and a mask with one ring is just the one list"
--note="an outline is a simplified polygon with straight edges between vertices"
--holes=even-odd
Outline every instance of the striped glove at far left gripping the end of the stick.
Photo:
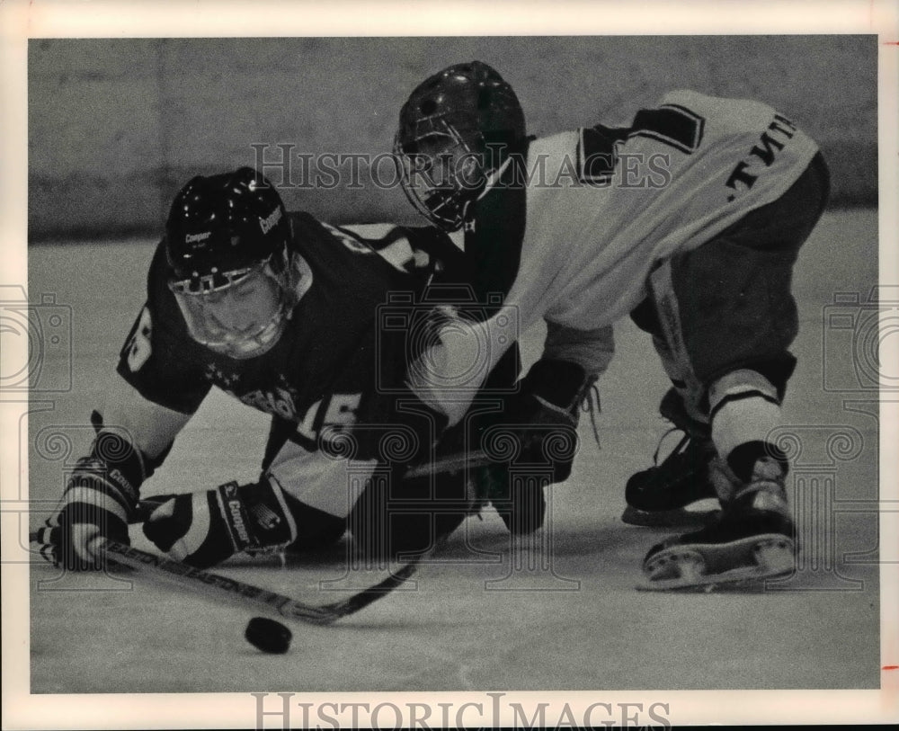
[[100,432],[90,456],[76,463],[58,513],[38,532],[41,556],[72,571],[101,568],[98,540],[129,543],[128,524],[136,512],[142,469],[128,441],[114,432]]

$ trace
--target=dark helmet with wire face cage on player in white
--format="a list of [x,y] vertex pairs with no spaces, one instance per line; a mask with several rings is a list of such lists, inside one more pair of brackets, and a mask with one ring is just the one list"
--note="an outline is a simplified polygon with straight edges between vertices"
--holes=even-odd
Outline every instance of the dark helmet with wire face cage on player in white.
[[492,67],[471,61],[418,85],[399,114],[394,152],[403,190],[420,213],[455,231],[487,178],[525,138],[524,111]]

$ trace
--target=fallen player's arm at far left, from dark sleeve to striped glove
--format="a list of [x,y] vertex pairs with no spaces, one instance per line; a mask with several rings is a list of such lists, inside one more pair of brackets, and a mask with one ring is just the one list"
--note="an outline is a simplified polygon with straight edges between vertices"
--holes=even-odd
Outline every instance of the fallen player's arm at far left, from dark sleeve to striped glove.
[[41,530],[42,554],[67,568],[98,567],[91,550],[96,539],[128,542],[141,484],[209,392],[165,287],[161,250],[148,276],[147,304],[106,386],[106,403],[91,416],[96,432],[91,448],[78,460],[57,513]]

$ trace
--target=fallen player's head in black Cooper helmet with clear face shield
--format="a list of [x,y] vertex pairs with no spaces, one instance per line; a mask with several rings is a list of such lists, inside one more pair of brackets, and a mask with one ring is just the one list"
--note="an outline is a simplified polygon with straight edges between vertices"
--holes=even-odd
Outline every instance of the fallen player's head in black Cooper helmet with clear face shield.
[[165,225],[169,289],[191,337],[232,358],[268,351],[308,287],[289,254],[280,195],[242,167],[197,176],[175,196]]

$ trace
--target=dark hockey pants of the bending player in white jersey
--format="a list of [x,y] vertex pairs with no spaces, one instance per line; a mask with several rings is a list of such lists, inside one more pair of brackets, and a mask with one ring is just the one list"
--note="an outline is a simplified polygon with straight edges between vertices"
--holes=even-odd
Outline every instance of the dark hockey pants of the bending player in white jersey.
[[793,265],[828,192],[818,153],[777,201],[651,274],[651,294],[631,317],[653,335],[691,415],[708,417],[708,387],[735,370],[761,373],[783,397],[796,367],[788,351],[798,332]]

